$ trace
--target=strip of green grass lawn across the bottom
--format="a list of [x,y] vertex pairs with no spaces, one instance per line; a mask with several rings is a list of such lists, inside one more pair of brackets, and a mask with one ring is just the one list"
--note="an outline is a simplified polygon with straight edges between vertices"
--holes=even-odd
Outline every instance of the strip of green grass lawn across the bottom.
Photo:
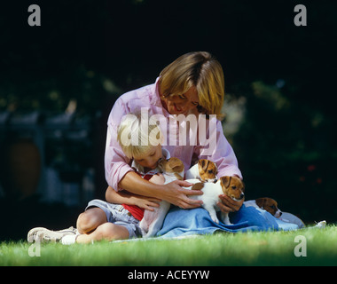
[[[306,239],[307,256],[294,256]],[[303,243],[301,243],[303,244]],[[129,241],[63,246],[41,244],[28,255],[27,241],[0,243],[0,265],[337,265],[337,227],[294,232],[218,233],[174,241]]]

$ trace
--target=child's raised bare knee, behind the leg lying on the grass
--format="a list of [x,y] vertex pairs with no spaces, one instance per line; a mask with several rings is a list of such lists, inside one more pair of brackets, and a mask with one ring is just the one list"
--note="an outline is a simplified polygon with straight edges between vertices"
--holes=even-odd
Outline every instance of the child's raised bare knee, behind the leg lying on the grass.
[[77,218],[77,230],[79,233],[91,233],[99,225],[106,223],[106,212],[98,207],[85,210]]

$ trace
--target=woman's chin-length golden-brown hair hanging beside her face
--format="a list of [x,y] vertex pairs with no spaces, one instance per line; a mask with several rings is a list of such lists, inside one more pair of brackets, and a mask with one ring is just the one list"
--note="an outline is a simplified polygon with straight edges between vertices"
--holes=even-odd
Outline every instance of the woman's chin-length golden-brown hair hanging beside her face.
[[210,53],[186,53],[165,67],[160,76],[162,96],[182,95],[194,86],[198,91],[198,110],[204,114],[216,114],[218,119],[223,119],[223,68]]

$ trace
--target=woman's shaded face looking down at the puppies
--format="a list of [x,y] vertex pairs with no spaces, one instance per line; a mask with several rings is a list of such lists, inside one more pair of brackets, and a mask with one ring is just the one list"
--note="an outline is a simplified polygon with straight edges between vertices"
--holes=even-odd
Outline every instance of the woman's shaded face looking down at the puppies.
[[190,111],[199,106],[198,92],[195,87],[191,87],[181,95],[166,98],[161,97],[161,100],[169,114],[187,115]]

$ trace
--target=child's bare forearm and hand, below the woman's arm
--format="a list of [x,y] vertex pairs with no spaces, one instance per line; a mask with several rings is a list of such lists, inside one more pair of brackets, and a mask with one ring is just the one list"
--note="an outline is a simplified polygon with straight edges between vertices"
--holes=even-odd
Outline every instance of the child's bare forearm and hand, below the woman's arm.
[[116,192],[113,187],[106,188],[106,201],[109,203],[137,205],[140,208],[153,211],[153,207],[159,207],[161,200],[154,197],[141,196],[128,191]]

